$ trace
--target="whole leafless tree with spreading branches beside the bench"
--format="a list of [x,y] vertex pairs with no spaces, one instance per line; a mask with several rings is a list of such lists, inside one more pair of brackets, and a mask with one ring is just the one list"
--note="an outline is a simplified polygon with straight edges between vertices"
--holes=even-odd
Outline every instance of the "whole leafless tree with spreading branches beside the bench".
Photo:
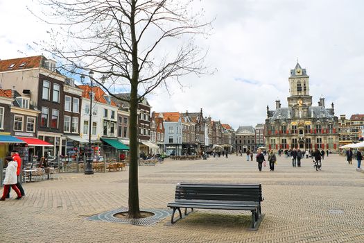
[[[130,169],[128,216],[139,218],[137,107],[146,94],[166,81],[205,72],[205,52],[194,44],[209,33],[193,1],[175,0],[40,0],[40,17],[57,28],[45,50],[62,60],[68,72],[93,70],[130,92]],[[35,14],[37,15],[37,14]],[[38,17],[40,15],[37,15]],[[45,16],[45,17],[44,17]]]

